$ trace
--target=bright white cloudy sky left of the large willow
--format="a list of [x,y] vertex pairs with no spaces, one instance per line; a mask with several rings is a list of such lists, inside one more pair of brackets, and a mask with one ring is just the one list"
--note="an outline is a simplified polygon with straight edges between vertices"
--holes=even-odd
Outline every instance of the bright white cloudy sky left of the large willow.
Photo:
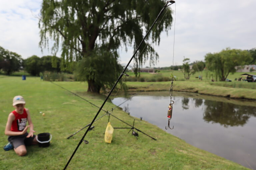
[[[21,54],[23,58],[42,56],[38,19],[41,1],[0,1],[0,45]],[[45,54],[48,52],[45,50]]]

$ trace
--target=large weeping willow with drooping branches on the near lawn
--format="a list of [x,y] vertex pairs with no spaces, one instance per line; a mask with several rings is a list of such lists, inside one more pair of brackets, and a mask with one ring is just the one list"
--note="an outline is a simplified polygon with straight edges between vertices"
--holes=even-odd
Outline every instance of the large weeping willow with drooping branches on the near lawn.
[[[120,74],[118,50],[127,50],[127,46],[136,49],[164,4],[162,0],[43,0],[39,44],[44,48],[53,40],[53,53],[61,47],[62,70],[78,62],[78,77],[88,82],[88,91],[99,92]],[[153,28],[156,31],[151,33],[150,43],[147,38],[135,56],[136,67],[148,59],[157,61],[152,44],[159,44],[161,32],[169,30],[172,22],[171,10],[166,10],[162,23]]]

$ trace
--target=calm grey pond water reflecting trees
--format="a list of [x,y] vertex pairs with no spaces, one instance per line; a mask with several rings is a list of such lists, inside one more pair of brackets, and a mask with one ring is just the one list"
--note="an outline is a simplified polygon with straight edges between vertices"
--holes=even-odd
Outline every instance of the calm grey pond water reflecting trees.
[[[117,97],[112,103],[126,100]],[[193,146],[256,170],[256,102],[183,92],[173,92],[173,101],[172,130],[165,129],[168,92],[140,93],[120,107]]]

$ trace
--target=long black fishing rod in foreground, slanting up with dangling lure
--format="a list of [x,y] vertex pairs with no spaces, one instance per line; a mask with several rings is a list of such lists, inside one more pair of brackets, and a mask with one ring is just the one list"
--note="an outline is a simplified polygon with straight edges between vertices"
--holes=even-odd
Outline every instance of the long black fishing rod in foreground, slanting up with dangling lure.
[[162,13],[164,12],[165,8],[168,7],[168,6],[170,6],[170,5],[172,5],[172,4],[174,4],[174,3],[175,3],[175,1],[172,1],[172,0],[171,0],[171,1],[167,1],[166,4],[164,5],[163,9],[162,9],[162,10],[160,11],[160,13],[158,14],[156,20],[154,21],[154,23],[152,24],[152,26],[149,28],[149,30],[148,30],[148,32],[146,33],[145,37],[144,37],[143,40],[140,42],[139,46],[137,47],[137,49],[135,50],[134,54],[132,55],[130,61],[129,61],[128,64],[125,66],[123,72],[120,74],[120,76],[118,77],[116,83],[114,84],[114,86],[112,87],[112,89],[111,89],[111,91],[109,92],[108,96],[106,97],[105,101],[104,101],[103,104],[101,105],[99,111],[97,112],[97,114],[96,114],[95,117],[93,118],[92,123],[89,125],[89,127],[87,128],[87,130],[86,130],[86,132],[84,133],[83,137],[82,137],[81,140],[79,141],[77,147],[75,148],[75,150],[74,150],[74,152],[72,153],[71,157],[69,158],[69,160],[68,160],[66,166],[64,167],[64,170],[68,167],[69,162],[72,160],[73,156],[75,155],[75,153],[76,153],[77,149],[79,148],[79,146],[81,145],[81,143],[82,143],[83,141],[84,141],[85,143],[88,143],[88,141],[84,140],[86,134],[88,133],[89,129],[91,128],[91,126],[92,126],[92,124],[93,124],[93,122],[95,121],[95,119],[96,119],[97,116],[99,115],[101,109],[103,108],[103,106],[104,106],[105,103],[107,102],[109,96],[111,95],[111,93],[112,93],[113,90],[115,89],[117,83],[118,83],[119,80],[123,77],[125,70],[127,69],[127,67],[129,66],[129,64],[131,63],[132,59],[134,58],[134,56],[135,56],[136,53],[138,52],[138,50],[139,50],[139,48],[140,48],[142,42],[145,41],[145,39],[146,39],[146,37],[148,36],[149,32],[152,30],[153,26],[155,25],[155,23],[157,22],[157,20],[158,20],[158,19],[160,18],[160,16],[162,15]]

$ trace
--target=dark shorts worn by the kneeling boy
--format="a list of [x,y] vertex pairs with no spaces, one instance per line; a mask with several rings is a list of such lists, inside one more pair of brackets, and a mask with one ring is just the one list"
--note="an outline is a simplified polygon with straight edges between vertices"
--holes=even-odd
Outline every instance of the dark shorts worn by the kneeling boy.
[[18,136],[9,136],[8,141],[14,146],[15,149],[20,145],[29,146],[31,145],[36,135],[33,135],[32,137],[27,137],[27,135],[28,133],[18,135]]

